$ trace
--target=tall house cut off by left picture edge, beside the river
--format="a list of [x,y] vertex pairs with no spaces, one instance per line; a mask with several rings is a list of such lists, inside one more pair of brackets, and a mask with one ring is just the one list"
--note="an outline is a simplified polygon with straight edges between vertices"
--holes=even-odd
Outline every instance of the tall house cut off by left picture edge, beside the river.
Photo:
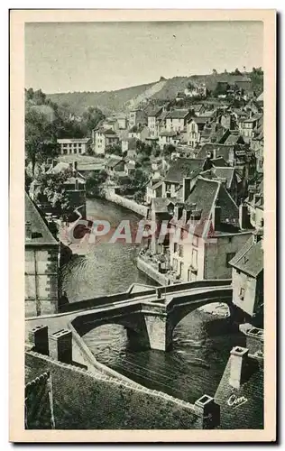
[[58,313],[60,243],[51,234],[41,210],[27,193],[24,210],[25,317]]

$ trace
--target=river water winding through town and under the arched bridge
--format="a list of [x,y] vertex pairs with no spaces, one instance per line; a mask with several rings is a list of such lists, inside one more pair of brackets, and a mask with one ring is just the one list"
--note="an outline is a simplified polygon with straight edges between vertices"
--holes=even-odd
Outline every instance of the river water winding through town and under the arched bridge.
[[[122,220],[133,225],[140,216],[104,199],[87,200],[87,217],[104,218],[114,229]],[[127,290],[133,282],[154,284],[136,268],[139,244],[88,244],[62,271],[62,290],[69,302]],[[84,336],[97,360],[135,382],[194,402],[214,395],[225,370],[229,352],[239,335],[230,332],[226,318],[216,319],[196,310],[180,321],[173,333],[173,349],[133,351],[126,331],[118,325],[97,327]]]

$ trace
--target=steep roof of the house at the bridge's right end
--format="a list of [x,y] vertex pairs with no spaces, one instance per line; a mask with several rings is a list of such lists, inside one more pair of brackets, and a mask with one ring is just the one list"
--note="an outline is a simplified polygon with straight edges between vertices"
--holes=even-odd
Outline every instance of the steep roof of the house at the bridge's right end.
[[230,264],[252,277],[257,277],[263,270],[262,239],[255,243],[254,235],[251,236],[242,249],[234,255]]

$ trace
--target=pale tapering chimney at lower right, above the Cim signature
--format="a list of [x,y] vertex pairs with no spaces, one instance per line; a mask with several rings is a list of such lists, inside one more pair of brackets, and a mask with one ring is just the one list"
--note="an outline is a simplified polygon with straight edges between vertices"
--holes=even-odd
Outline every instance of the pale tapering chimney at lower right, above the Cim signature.
[[247,363],[248,349],[242,346],[234,346],[230,356],[229,384],[235,389],[239,389],[244,383]]

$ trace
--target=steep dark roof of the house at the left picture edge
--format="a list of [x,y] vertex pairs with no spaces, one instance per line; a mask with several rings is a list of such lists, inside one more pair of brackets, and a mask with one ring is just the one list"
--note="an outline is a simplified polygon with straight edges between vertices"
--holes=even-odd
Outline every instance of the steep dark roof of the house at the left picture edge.
[[31,223],[32,239],[25,238],[25,244],[58,244],[57,240],[51,234],[46,220],[41,211],[32,199],[25,193],[24,198],[25,222]]

